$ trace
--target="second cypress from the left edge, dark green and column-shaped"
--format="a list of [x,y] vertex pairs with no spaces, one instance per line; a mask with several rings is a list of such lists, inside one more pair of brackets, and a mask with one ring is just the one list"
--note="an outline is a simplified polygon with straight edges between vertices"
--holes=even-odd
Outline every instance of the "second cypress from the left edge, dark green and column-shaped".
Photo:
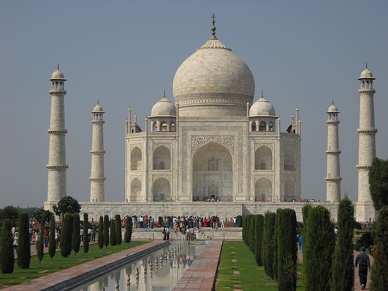
[[19,212],[18,218],[18,244],[17,244],[17,265],[22,269],[30,268],[31,261],[31,246],[30,246],[30,232],[28,214],[26,212]]

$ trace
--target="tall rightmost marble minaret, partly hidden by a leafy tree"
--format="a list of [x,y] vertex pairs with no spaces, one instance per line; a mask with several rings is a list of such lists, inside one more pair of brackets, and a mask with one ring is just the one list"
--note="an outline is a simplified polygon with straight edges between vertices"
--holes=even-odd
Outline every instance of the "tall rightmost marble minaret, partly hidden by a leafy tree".
[[369,192],[369,168],[372,165],[373,158],[376,156],[375,135],[377,129],[374,128],[374,105],[372,72],[368,69],[362,71],[360,78],[360,124],[358,133],[358,202],[372,202]]

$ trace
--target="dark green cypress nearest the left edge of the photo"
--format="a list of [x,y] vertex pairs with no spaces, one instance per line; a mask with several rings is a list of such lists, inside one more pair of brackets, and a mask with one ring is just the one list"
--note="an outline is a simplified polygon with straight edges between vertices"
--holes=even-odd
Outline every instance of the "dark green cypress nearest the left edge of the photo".
[[11,274],[15,268],[15,253],[11,234],[11,220],[4,220],[0,238],[0,270],[3,274]]

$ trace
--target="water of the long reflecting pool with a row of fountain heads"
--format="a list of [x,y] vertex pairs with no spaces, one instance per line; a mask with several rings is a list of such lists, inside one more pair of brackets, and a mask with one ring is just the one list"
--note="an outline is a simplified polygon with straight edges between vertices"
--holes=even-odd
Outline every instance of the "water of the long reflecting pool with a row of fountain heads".
[[[116,280],[120,291],[170,291],[206,245],[189,244],[179,251],[177,249],[174,255],[176,247],[178,248],[178,244],[170,244],[71,291],[101,291],[103,286],[105,291],[114,291]],[[164,259],[165,253],[168,256],[169,251],[170,258]],[[158,258],[158,265],[156,265],[156,258]],[[146,265],[146,274],[144,265]],[[139,268],[139,279],[136,279],[136,268]],[[127,285],[128,273],[130,285]]]

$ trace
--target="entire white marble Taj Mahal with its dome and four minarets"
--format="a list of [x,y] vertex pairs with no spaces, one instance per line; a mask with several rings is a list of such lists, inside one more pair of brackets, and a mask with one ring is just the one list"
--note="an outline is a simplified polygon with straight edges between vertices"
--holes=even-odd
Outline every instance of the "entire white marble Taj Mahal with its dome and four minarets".
[[[125,193],[123,202],[107,202],[104,182],[104,111],[92,111],[90,201],[80,202],[81,215],[194,215],[234,217],[293,208],[301,209],[301,118],[299,109],[283,121],[270,103],[270,92],[255,101],[255,80],[244,61],[215,35],[212,17],[208,41],[178,67],[173,99],[163,97],[144,125],[128,110],[125,122]],[[191,48],[189,48],[191,49]],[[48,199],[52,209],[66,195],[65,76],[52,74]],[[358,201],[356,220],[376,218],[368,172],[375,157],[372,72],[360,78]],[[101,102],[103,103],[103,102]],[[128,104],[130,106],[130,104]],[[127,106],[128,106],[127,105]],[[328,104],[329,105],[329,104]],[[339,109],[327,110],[326,202],[337,219],[340,195]],[[281,128],[286,129],[281,131]],[[355,161],[356,163],[356,161]],[[108,177],[109,178],[109,177]],[[77,197],[75,197],[77,199]],[[206,201],[214,202],[206,202]]]

